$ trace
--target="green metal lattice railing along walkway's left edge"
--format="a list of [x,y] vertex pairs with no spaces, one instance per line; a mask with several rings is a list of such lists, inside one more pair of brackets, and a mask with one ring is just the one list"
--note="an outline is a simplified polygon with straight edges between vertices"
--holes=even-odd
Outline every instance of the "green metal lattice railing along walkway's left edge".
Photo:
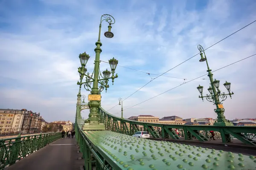
[[0,170],[61,138],[61,133],[44,133],[0,139]]

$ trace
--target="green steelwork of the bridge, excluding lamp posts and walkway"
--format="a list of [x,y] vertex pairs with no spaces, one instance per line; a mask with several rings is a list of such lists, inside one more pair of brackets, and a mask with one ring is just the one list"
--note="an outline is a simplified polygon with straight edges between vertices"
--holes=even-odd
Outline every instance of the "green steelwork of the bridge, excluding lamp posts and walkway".
[[[184,140],[207,142],[209,131],[213,130],[219,134],[216,136],[223,144],[230,145],[233,142],[237,147],[242,147],[243,144],[255,150],[256,127],[137,122],[113,116],[99,107],[99,123],[105,126],[105,130],[84,130],[87,123],[81,117],[81,110],[86,108],[87,105],[77,103],[75,124],[76,141],[85,170],[93,170],[93,165],[97,170],[256,169],[256,156],[253,155],[177,143]],[[140,131],[141,126],[153,139],[158,140],[133,137],[134,133]],[[161,128],[161,136],[154,127]],[[182,132],[183,139],[177,135],[175,129]],[[61,139],[60,133],[22,137],[19,135],[16,138],[0,140],[0,170],[58,139]]]

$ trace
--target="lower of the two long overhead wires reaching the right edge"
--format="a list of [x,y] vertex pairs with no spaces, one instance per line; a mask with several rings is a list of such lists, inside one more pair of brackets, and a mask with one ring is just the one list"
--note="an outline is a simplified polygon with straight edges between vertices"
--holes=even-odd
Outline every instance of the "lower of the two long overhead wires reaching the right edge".
[[[240,60],[238,60],[238,61],[236,61],[236,62],[233,62],[233,63],[231,63],[231,64],[229,64],[229,65],[226,65],[226,66],[224,66],[224,67],[218,68],[218,69],[215,70],[215,71],[221,70],[221,69],[223,69],[223,68],[226,68],[226,67],[228,67],[228,66],[230,66],[230,65],[236,64],[237,62],[241,62],[241,61],[243,61],[244,59],[248,59],[248,58],[253,57],[253,56],[256,56],[256,54],[253,54],[253,55],[251,55],[251,56],[248,56],[248,57],[245,57],[245,58],[243,58],[243,59],[240,59]],[[212,71],[212,73],[215,72],[215,71]],[[207,73],[207,74],[208,74],[208,73]],[[197,78],[195,78],[195,79],[204,77],[204,76],[206,76],[207,74],[204,74],[204,75],[202,75],[202,76],[199,76],[199,77],[197,77]],[[194,81],[195,79],[189,80],[188,82],[192,82],[192,81]],[[136,104],[136,105],[133,105],[133,106],[128,107],[128,108],[125,108],[125,109],[123,109],[123,111],[125,111],[125,110],[127,110],[127,109],[129,109],[129,108],[133,108],[134,106],[140,105],[140,104],[142,104],[142,103],[144,103],[144,102],[147,102],[148,100],[154,99],[155,97],[160,96],[160,95],[162,95],[162,94],[165,94],[165,93],[167,93],[167,92],[169,92],[169,91],[171,91],[171,90],[173,90],[173,89],[175,89],[175,88],[177,88],[177,87],[180,87],[181,85],[184,85],[184,84],[186,84],[186,83],[188,83],[188,82],[184,82],[184,83],[182,83],[182,84],[180,84],[180,85],[175,86],[174,88],[171,88],[171,89],[169,89],[169,90],[167,90],[167,91],[164,91],[163,93],[160,93],[160,94],[158,94],[158,95],[156,95],[156,96],[154,96],[154,97],[151,97],[151,98],[149,98],[149,99],[146,99],[146,100],[144,100],[143,102],[140,102],[140,103],[138,103],[138,104]],[[120,112],[120,111],[118,111],[118,112],[116,112],[116,113],[119,113],[119,112]],[[114,113],[114,114],[116,114],[116,113]]]

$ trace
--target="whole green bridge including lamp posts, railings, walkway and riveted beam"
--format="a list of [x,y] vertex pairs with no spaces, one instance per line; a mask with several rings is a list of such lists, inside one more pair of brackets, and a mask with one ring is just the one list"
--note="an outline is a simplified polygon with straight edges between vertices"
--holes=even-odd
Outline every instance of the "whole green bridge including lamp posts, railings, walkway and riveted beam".
[[[79,55],[81,67],[79,93],[76,104],[75,139],[61,139],[60,133],[34,136],[17,136],[0,140],[0,169],[15,170],[254,170],[256,169],[256,128],[233,126],[225,119],[222,101],[230,92],[230,83],[224,83],[228,94],[220,93],[219,81],[213,81],[204,49],[198,46],[201,62],[207,62],[210,95],[202,95],[216,105],[217,122],[210,125],[166,125],[137,122],[114,116],[101,107],[101,91],[109,88],[108,81],[115,74],[118,60],[110,59],[111,71],[99,71],[99,55],[102,52],[100,33],[102,21],[109,23],[105,37],[112,38],[111,28],[115,20],[102,15],[99,38],[96,42],[96,59],[93,74],[87,74],[85,65],[90,58],[85,52]],[[110,76],[112,74],[112,76]],[[102,76],[102,78],[99,78]],[[85,77],[86,81],[82,82]],[[91,84],[93,86],[91,87]],[[100,85],[99,85],[100,84]],[[81,86],[90,91],[89,103],[81,102]],[[222,100],[221,100],[222,99]],[[84,120],[81,111],[90,109]],[[161,129],[161,133],[157,129]],[[148,131],[151,139],[135,138],[140,130]],[[175,130],[181,132],[181,137]],[[209,140],[214,131],[217,140]]]

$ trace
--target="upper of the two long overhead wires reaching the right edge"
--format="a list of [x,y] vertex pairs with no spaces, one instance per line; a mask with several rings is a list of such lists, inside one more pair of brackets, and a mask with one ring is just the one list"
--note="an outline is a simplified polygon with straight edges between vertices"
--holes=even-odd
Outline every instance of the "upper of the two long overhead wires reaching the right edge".
[[[256,20],[254,20],[253,22],[251,22],[251,23],[247,24],[246,26],[240,28],[239,30],[233,32],[232,34],[228,35],[227,37],[225,37],[225,38],[219,40],[218,42],[215,42],[213,45],[211,45],[211,46],[209,46],[208,48],[204,49],[204,51],[206,51],[207,49],[213,47],[214,45],[218,44],[219,42],[221,42],[221,41],[227,39],[228,37],[232,36],[233,34],[236,34],[237,32],[241,31],[242,29],[246,28],[247,26],[250,26],[251,24],[253,24],[253,23],[255,23],[255,22],[256,22]],[[198,54],[200,54],[200,52],[199,52]],[[175,67],[169,69],[168,71],[164,72],[163,74],[166,74],[167,72],[169,72],[169,71],[171,71],[172,69],[178,67],[179,65],[183,64],[184,62],[187,62],[189,59],[192,59],[193,57],[197,56],[198,54],[195,54],[194,56],[192,56],[192,57],[186,59],[185,61],[183,61],[183,62],[181,62],[180,64],[176,65]],[[159,76],[155,77],[154,79],[157,79],[158,77],[162,76],[163,74],[160,74]],[[146,83],[145,85],[143,85],[143,86],[142,86],[141,88],[139,88],[137,91],[140,91],[140,89],[142,89],[143,87],[145,87],[146,85],[148,85],[148,84],[149,84],[150,82],[152,82],[154,79],[151,79],[148,83]],[[196,79],[197,79],[197,78],[196,78]],[[192,80],[194,80],[194,79],[192,79]],[[134,95],[135,93],[137,93],[137,91],[135,91],[133,94],[131,94],[131,95],[129,95],[128,97],[126,97],[123,101],[125,101],[126,99],[128,99],[129,97],[131,97],[132,95]],[[114,107],[115,107],[115,106],[114,106]],[[113,107],[113,108],[114,108],[114,107]],[[112,109],[112,108],[111,108],[111,109]],[[110,110],[111,110],[111,109],[110,109]],[[108,111],[110,111],[110,110],[108,110]]]

